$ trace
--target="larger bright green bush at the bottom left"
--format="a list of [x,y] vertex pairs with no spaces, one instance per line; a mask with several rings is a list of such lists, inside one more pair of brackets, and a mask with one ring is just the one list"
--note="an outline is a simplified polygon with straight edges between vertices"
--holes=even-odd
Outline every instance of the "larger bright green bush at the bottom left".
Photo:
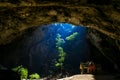
[[20,78],[22,79],[27,79],[28,77],[28,70],[26,68],[23,68],[22,65],[15,67],[12,69],[15,72],[18,72],[20,74]]

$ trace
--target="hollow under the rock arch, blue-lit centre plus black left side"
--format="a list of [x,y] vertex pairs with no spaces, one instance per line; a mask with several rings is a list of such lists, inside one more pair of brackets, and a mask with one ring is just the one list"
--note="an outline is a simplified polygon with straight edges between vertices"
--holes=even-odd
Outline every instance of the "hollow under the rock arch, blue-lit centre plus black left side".
[[[80,62],[89,60],[87,28],[69,23],[52,23],[28,29],[22,38],[3,50],[6,67],[23,65],[41,76],[80,73]],[[65,54],[64,54],[65,53]],[[65,55],[65,56],[60,56]],[[8,61],[9,60],[9,61]]]

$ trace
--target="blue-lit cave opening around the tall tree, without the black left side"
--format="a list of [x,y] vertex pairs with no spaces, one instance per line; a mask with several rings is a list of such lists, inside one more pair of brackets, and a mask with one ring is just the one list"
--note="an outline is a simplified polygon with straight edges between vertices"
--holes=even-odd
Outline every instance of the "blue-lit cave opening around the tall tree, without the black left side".
[[34,43],[28,43],[32,44],[28,57],[31,72],[60,73],[62,66],[63,73],[77,74],[80,62],[89,60],[86,27],[52,23],[38,27],[32,36]]

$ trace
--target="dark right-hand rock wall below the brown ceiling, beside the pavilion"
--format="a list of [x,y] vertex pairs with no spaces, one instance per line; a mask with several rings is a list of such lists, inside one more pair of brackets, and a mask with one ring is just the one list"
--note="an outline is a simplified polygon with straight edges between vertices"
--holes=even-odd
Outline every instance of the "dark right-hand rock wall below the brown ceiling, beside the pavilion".
[[92,60],[100,63],[104,71],[118,72],[120,68],[120,41],[112,39],[94,29],[88,30],[88,39],[93,46],[91,46]]

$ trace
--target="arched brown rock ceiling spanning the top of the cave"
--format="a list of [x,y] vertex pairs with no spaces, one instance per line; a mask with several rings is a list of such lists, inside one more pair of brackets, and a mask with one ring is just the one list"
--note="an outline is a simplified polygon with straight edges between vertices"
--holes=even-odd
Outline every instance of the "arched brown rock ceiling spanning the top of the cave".
[[1,6],[0,44],[10,43],[30,27],[53,22],[68,22],[91,27],[120,40],[119,10],[112,5],[80,6],[58,2],[36,6]]

